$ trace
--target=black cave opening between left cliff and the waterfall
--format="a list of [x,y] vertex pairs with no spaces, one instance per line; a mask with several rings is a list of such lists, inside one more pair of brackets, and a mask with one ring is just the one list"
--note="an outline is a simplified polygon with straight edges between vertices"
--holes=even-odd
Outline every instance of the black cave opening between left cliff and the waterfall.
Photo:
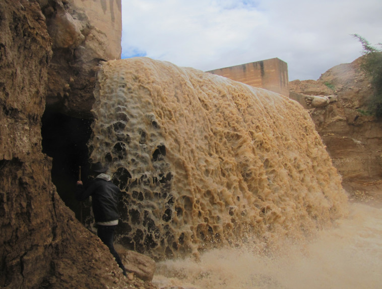
[[46,109],[41,121],[42,152],[52,158],[52,182],[63,202],[83,222],[82,203],[76,200],[75,190],[80,166],[81,180],[86,181],[88,176],[87,142],[92,133],[92,120]]

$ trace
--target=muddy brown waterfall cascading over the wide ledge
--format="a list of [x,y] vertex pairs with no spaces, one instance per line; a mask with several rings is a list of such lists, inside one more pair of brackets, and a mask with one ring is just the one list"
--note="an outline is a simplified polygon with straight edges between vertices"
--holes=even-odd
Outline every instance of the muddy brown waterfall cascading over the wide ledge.
[[286,97],[145,57],[104,63],[95,97],[91,159],[122,191],[129,249],[270,255],[347,214],[320,136]]

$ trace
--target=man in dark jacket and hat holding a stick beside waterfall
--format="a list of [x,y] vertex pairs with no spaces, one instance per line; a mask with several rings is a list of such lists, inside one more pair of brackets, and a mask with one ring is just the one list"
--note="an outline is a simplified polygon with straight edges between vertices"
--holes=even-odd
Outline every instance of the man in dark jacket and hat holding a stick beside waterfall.
[[82,201],[92,196],[97,236],[109,248],[126,276],[126,270],[113,246],[114,231],[119,218],[117,204],[120,191],[111,182],[110,176],[105,174],[106,171],[107,167],[103,167],[100,162],[92,164],[90,175],[94,179],[87,186],[83,186],[82,181],[77,181],[76,199]]

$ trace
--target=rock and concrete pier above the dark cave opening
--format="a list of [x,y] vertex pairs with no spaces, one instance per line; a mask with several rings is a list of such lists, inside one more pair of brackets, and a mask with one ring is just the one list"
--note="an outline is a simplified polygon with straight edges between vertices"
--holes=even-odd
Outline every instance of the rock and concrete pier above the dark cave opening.
[[39,0],[52,39],[46,105],[90,117],[99,61],[120,59],[120,0]]

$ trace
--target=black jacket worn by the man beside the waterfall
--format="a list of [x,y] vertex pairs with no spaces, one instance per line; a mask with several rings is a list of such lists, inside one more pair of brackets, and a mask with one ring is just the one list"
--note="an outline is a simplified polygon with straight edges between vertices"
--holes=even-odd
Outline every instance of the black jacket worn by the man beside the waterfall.
[[119,189],[110,181],[94,179],[86,187],[77,185],[76,199],[82,201],[92,196],[93,213],[96,222],[117,220]]

